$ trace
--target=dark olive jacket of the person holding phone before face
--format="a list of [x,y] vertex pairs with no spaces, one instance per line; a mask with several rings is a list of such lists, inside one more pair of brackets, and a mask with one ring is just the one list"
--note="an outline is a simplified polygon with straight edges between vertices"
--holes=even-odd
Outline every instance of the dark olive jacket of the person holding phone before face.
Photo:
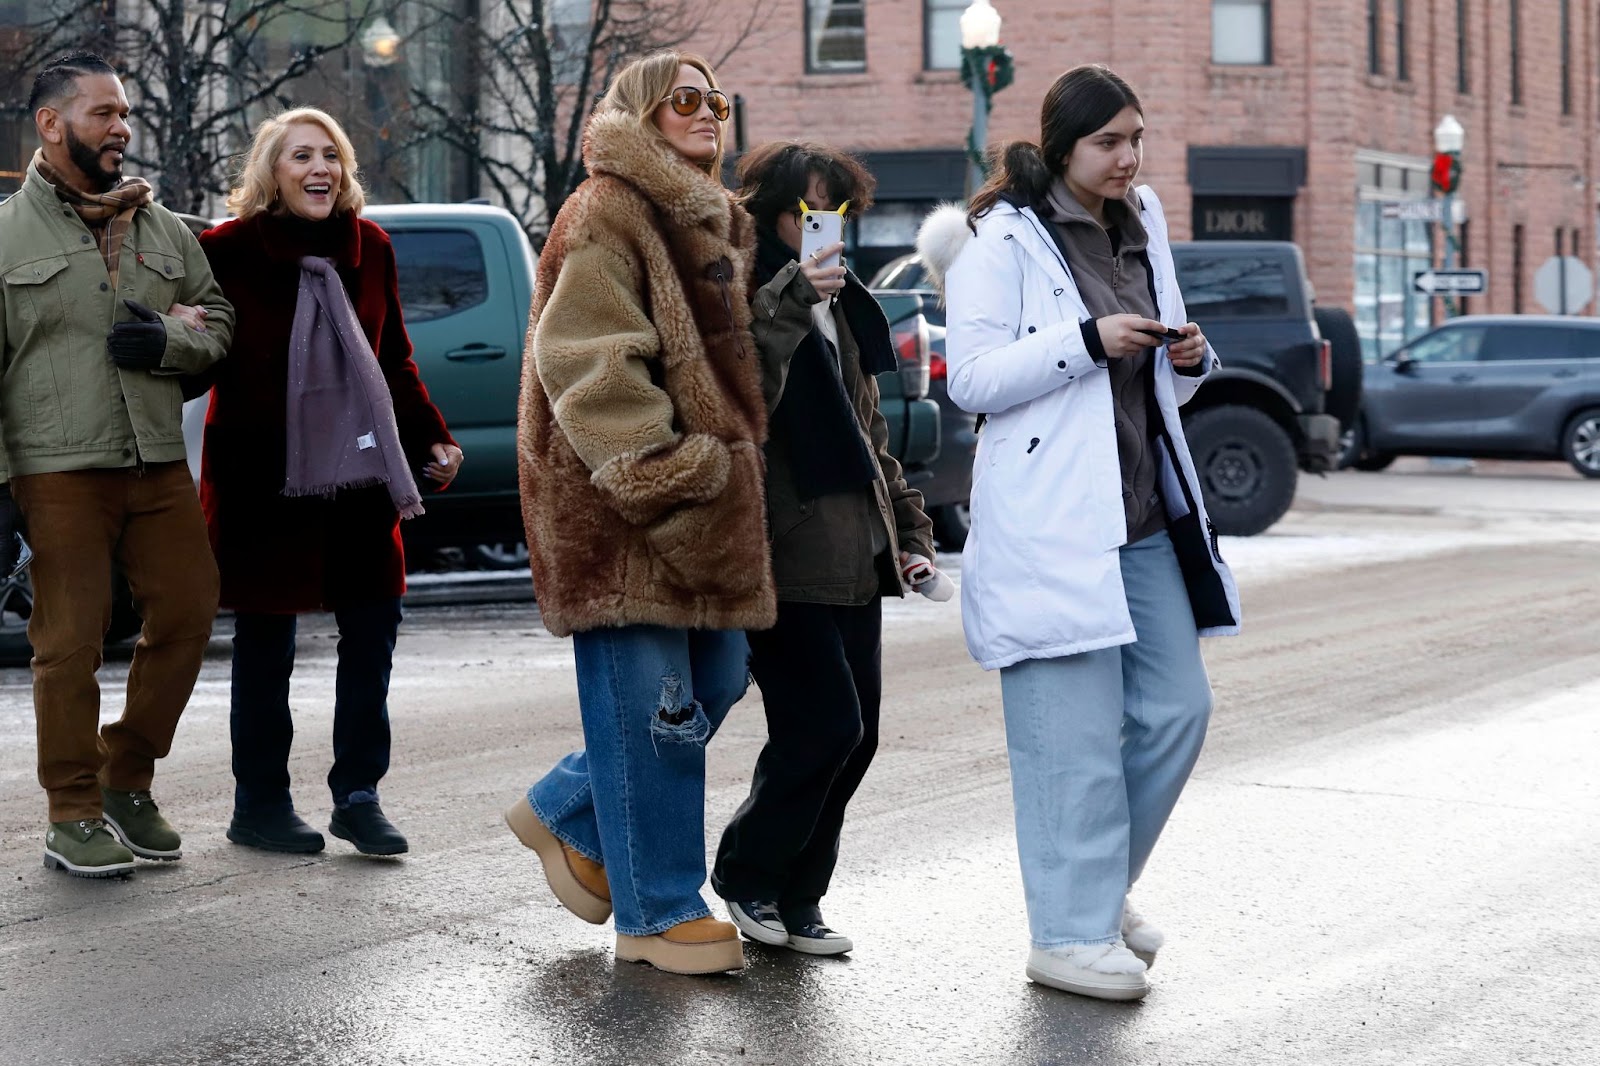
[[[811,331],[811,306],[821,299],[798,262],[790,262],[755,293],[750,333],[762,357],[762,391],[770,411],[782,402],[789,362]],[[906,594],[899,554],[907,551],[933,559],[933,522],[922,509],[922,493],[906,485],[899,461],[890,455],[888,424],[878,411],[878,383],[861,371],[856,339],[837,309],[834,323],[845,387],[856,426],[878,459],[878,479],[870,491],[800,499],[789,447],[803,447],[803,442],[779,440],[774,434],[766,442],[766,514],[779,600],[859,605],[880,594]],[[882,525],[877,538],[874,523]],[[888,555],[874,557],[872,541],[883,543],[885,533]]]

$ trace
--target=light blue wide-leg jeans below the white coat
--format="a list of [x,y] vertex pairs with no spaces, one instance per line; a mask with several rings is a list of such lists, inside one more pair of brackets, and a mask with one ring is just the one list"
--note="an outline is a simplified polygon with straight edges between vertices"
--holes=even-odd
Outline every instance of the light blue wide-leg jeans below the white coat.
[[1035,948],[1107,944],[1211,717],[1166,531],[1122,549],[1134,643],[1000,672],[1016,848]]

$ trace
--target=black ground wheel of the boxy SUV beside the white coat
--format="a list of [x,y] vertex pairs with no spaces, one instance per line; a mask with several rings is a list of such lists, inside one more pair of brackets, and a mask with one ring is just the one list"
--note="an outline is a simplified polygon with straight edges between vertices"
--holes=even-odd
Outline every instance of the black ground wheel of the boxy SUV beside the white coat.
[[1294,442],[1253,407],[1222,405],[1184,426],[1206,512],[1218,533],[1254,536],[1294,503]]

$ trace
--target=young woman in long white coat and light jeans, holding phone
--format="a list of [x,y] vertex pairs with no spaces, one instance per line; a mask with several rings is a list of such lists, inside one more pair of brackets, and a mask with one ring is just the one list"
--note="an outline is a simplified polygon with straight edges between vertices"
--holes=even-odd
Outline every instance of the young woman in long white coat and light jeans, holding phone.
[[998,669],[1032,938],[1027,975],[1139,999],[1162,935],[1126,903],[1205,739],[1200,635],[1237,632],[1178,408],[1216,365],[1178,291],[1144,115],[1106,67],[1045,96],[942,275],[950,399],[987,416],[962,562],[966,642]]

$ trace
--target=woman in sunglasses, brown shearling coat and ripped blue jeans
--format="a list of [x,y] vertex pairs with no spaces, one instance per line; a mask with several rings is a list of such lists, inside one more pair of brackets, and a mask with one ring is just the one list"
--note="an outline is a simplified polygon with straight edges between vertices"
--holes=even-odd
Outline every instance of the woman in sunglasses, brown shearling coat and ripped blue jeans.
[[587,747],[506,820],[570,911],[614,914],[618,959],[677,973],[744,965],[701,896],[706,741],[744,695],[742,631],[776,615],[726,118],[698,56],[618,74],[539,258],[518,426],[534,591],[573,634]]

